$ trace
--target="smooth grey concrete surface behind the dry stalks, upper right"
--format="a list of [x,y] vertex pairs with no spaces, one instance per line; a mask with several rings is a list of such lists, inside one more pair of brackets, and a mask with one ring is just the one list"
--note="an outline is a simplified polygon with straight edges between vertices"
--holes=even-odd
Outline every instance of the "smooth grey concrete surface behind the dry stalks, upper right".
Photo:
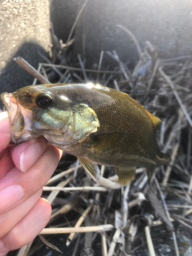
[[[83,3],[82,0],[52,0],[51,19],[56,33],[63,41],[67,40],[68,25],[72,27],[72,20],[74,22]],[[56,14],[52,13],[53,10],[56,10]],[[101,50],[114,49],[124,62],[131,61],[134,66],[138,60],[135,44],[116,25],[130,29],[142,48],[146,40],[151,41],[159,49],[161,57],[192,54],[191,1],[90,0],[75,29],[73,56],[83,53],[84,35],[87,67],[98,64]],[[109,65],[109,61],[113,63],[111,58],[104,55],[103,65]]]

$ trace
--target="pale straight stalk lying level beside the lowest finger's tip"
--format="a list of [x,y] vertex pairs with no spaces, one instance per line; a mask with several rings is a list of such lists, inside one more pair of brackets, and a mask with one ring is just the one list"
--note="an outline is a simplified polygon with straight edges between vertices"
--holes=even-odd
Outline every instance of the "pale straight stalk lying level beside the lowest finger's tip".
[[87,232],[103,232],[113,230],[112,224],[89,227],[61,227],[61,228],[44,228],[40,234],[66,234],[66,233],[87,233]]

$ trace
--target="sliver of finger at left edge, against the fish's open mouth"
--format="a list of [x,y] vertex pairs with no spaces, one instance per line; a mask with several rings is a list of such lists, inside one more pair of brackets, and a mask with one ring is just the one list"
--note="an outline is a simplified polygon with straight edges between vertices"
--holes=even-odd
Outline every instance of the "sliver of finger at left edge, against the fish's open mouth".
[[7,148],[11,138],[7,112],[0,113],[0,153]]

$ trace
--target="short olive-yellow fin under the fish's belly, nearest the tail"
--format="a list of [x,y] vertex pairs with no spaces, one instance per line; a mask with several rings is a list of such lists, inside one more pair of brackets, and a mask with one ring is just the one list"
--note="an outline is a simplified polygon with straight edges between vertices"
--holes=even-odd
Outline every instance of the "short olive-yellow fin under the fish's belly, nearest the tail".
[[126,185],[135,177],[136,167],[116,167],[116,172],[119,177],[119,184]]

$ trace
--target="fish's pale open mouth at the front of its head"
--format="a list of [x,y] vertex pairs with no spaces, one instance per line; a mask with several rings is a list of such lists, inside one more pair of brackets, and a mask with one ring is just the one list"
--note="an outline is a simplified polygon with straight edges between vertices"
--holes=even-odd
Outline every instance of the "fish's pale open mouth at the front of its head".
[[[22,112],[24,112],[24,108],[20,105],[12,93],[2,93],[1,99],[5,104],[10,124],[11,131],[11,141],[10,144],[18,144],[23,142],[24,140],[20,139],[25,130],[25,116]],[[25,112],[24,112],[25,113]]]

